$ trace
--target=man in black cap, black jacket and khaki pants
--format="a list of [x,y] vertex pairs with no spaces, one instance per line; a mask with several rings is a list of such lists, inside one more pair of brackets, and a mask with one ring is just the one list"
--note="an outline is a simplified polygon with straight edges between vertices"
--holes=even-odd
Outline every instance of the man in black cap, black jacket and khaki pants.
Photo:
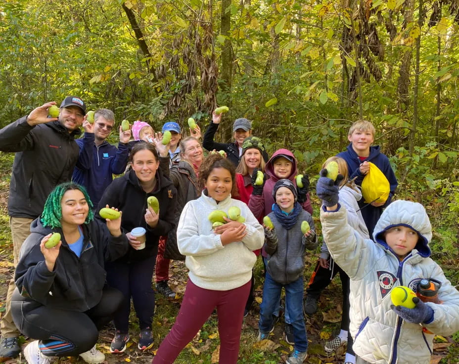
[[[72,179],[80,149],[75,137],[81,134],[84,122],[86,132],[93,133],[85,120],[86,105],[75,96],[62,101],[58,118],[49,118],[47,102],[0,130],[0,151],[15,152],[8,197],[8,215],[16,266],[22,243],[30,234],[31,222],[38,218],[46,197],[59,183]],[[18,329],[10,313],[11,279],[6,296],[6,311],[0,321],[0,361],[15,358],[21,352]]]

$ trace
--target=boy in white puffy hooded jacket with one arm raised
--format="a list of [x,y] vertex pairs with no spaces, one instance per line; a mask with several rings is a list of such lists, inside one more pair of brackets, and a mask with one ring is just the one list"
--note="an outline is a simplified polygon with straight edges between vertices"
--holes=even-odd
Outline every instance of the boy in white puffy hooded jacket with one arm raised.
[[[338,204],[338,184],[321,171],[317,194],[322,199],[323,238],[331,256],[351,278],[351,326],[357,363],[429,364],[434,334],[459,330],[459,292],[430,256],[432,228],[419,203],[395,201],[384,210],[372,240],[347,225],[346,209]],[[393,306],[391,289],[413,291],[421,279],[441,283],[441,304],[423,303],[408,309]],[[433,333],[433,334],[432,334]]]

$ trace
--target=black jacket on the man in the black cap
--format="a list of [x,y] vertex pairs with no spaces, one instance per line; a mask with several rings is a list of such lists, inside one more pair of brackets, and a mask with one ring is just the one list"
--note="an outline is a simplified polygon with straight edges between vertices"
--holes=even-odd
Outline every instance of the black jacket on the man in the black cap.
[[80,149],[75,136],[58,121],[31,127],[27,117],[0,130],[0,150],[17,152],[9,185],[8,215],[35,219],[49,192],[72,179]]

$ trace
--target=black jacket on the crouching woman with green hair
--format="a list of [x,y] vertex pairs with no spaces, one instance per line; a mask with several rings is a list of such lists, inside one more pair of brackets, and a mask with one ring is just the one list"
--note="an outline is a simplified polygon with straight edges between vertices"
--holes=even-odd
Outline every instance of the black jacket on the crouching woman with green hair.
[[[24,241],[14,280],[22,296],[50,308],[85,312],[100,302],[105,285],[104,263],[128,250],[125,234],[113,237],[107,226],[93,220],[82,225],[84,243],[80,258],[69,248],[61,228],[44,227],[40,218]],[[53,272],[49,272],[40,242],[50,232],[61,234],[62,245]]]

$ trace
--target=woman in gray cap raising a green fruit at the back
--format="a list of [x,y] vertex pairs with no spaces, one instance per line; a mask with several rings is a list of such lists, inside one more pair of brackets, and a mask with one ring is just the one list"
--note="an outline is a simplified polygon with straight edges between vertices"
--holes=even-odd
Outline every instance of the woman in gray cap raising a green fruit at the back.
[[[212,122],[204,134],[202,146],[207,150],[224,150],[227,153],[227,158],[237,166],[242,155],[242,143],[246,137],[252,135],[252,122],[245,118],[236,119],[232,125],[234,142],[231,143],[217,143],[214,141],[215,133],[217,133],[218,126],[222,121],[222,114],[212,113]],[[268,161],[268,154],[263,153],[263,159]]]

